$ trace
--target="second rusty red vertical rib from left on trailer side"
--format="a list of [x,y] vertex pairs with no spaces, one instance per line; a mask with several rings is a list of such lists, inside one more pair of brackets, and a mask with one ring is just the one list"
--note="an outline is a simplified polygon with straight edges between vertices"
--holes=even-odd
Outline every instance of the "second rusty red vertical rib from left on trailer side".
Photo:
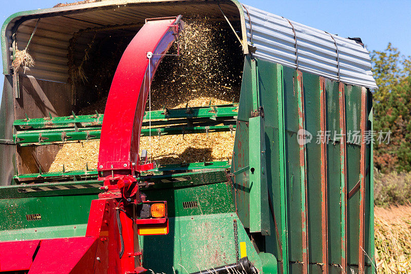
[[327,195],[327,107],[325,96],[325,79],[320,77],[320,129],[321,140],[321,232],[322,232],[322,259],[323,273],[328,273],[328,195]]

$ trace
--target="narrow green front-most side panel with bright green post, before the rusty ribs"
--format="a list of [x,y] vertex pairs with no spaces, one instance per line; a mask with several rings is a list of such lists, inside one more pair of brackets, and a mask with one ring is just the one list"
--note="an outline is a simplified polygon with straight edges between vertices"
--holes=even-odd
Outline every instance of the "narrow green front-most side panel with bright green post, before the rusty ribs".
[[[269,213],[270,235],[266,236],[266,250],[279,260],[279,268],[287,272],[287,227],[285,203],[283,67],[258,60],[258,87],[264,109],[267,188],[271,196]],[[276,118],[278,117],[278,118]],[[281,140],[281,141],[279,141]],[[281,148],[281,149],[280,149]],[[270,202],[270,201],[268,201]],[[276,226],[275,226],[276,225]],[[278,233],[278,238],[277,238]],[[283,262],[286,262],[283,265]]]

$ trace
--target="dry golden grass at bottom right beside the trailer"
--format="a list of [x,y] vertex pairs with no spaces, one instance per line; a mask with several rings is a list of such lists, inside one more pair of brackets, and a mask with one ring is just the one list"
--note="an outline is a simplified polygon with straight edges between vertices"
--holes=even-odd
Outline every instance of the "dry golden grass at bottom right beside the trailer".
[[411,273],[411,204],[375,208],[378,273]]

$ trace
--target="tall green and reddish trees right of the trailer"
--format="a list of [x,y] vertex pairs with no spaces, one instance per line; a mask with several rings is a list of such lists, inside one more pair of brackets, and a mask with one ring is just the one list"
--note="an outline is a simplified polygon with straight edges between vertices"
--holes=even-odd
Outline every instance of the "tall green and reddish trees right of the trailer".
[[373,93],[374,129],[391,132],[390,142],[376,143],[375,166],[382,172],[411,171],[411,57],[388,44],[372,51],[373,75],[379,89]]

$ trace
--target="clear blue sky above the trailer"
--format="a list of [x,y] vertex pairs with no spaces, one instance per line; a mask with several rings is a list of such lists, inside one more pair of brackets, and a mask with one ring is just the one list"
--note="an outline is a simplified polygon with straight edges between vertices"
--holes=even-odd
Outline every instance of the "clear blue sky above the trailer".
[[[402,54],[411,56],[411,0],[240,0],[240,2],[342,37],[360,37],[370,51],[383,50],[391,42]],[[7,17],[15,12],[50,8],[58,4],[59,0],[13,0],[11,2],[0,0],[0,3],[2,4],[0,21],[3,24]],[[3,90],[3,80],[0,80],[0,88]]]

